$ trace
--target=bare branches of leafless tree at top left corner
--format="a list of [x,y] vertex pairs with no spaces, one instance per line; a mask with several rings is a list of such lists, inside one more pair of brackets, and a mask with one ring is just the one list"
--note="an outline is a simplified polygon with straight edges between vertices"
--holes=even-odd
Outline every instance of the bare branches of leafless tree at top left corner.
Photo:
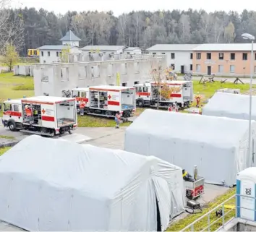
[[22,14],[10,9],[11,0],[0,0],[0,53],[4,53],[7,43],[12,43],[17,51],[24,46],[24,25]]

